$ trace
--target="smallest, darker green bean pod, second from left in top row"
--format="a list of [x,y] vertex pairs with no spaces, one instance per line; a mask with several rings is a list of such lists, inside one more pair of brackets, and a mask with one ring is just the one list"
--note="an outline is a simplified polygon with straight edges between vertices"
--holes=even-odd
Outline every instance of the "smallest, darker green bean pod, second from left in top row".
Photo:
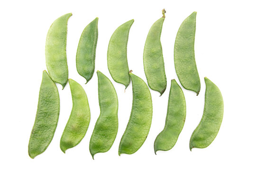
[[91,80],[95,68],[98,20],[99,18],[96,17],[84,28],[76,52],[76,69],[86,79],[86,83]]

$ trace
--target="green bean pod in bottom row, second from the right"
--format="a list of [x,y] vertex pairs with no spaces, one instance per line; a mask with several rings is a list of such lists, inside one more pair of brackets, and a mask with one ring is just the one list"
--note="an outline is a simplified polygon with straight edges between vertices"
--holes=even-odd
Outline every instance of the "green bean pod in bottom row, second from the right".
[[173,79],[169,94],[165,127],[155,138],[154,150],[168,151],[174,147],[186,119],[186,101],[181,87]]

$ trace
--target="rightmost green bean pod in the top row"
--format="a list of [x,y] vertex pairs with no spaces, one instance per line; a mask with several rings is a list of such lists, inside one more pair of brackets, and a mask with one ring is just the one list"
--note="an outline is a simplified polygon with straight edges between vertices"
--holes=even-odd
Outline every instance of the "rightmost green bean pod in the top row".
[[174,44],[174,65],[181,85],[198,95],[201,84],[195,62],[195,30],[196,12],[193,12],[178,30]]

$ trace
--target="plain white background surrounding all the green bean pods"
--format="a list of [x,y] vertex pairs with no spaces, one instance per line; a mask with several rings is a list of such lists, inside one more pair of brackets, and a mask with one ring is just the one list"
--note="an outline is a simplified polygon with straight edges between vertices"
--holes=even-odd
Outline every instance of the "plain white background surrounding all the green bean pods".
[[[107,49],[114,30],[130,19],[135,22],[128,40],[128,65],[146,81],[143,49],[152,24],[166,9],[161,42],[165,59],[167,88],[163,96],[152,91],[153,119],[148,137],[132,155],[118,155],[120,138],[128,123],[132,86],[113,81],[107,67]],[[195,58],[201,78],[199,96],[183,89],[187,117],[177,143],[167,152],[154,154],[155,137],[165,125],[171,79],[179,83],[174,69],[174,41],[183,20],[197,11]],[[69,85],[60,93],[60,116],[55,136],[47,150],[31,159],[27,145],[34,124],[39,87],[45,64],[45,41],[52,22],[73,13],[68,21],[67,60],[69,78],[80,83],[89,99],[91,122],[76,147],[64,154],[60,137],[72,109]],[[91,81],[76,71],[75,55],[80,35],[99,17],[99,39],[95,73]],[[0,169],[255,169],[256,153],[256,10],[248,0],[5,0],[0,4]],[[119,130],[107,153],[92,160],[89,141],[100,114],[96,70],[110,78],[119,98]],[[189,140],[204,106],[207,76],[220,89],[224,117],[218,136],[205,149],[189,150]],[[180,83],[179,83],[180,84]]]

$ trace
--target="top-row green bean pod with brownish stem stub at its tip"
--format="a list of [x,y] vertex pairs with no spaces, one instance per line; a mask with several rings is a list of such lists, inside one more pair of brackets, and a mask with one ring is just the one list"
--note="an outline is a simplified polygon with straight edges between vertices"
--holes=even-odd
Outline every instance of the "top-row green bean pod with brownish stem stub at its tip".
[[161,45],[161,32],[165,21],[165,9],[163,17],[151,26],[144,46],[143,63],[148,86],[162,95],[166,89],[165,63]]

